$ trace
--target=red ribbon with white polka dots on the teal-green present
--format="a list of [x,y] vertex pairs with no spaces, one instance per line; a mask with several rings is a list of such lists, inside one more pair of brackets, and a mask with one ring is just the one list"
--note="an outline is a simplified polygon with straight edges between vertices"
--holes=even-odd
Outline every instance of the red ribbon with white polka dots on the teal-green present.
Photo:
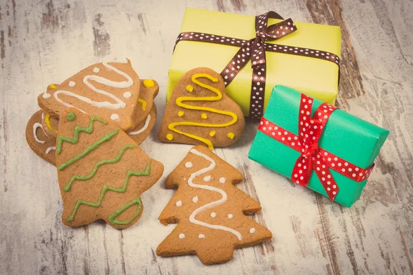
[[324,126],[326,126],[331,113],[338,108],[331,104],[323,103],[317,108],[313,118],[311,118],[312,106],[313,98],[301,94],[298,135],[277,126],[266,118],[261,119],[258,130],[301,153],[295,162],[293,173],[291,174],[293,181],[299,185],[306,186],[310,180],[311,173],[315,170],[328,197],[334,201],[335,196],[339,192],[339,186],[332,177],[329,169],[360,182],[370,176],[374,164],[370,168],[364,169],[341,159],[341,157],[323,148],[319,148],[318,142],[323,133]]

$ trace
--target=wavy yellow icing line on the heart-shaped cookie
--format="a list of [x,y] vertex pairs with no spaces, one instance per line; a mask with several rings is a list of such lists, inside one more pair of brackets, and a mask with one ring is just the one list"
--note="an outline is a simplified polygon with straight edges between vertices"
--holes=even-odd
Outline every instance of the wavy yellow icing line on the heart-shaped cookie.
[[176,104],[179,107],[185,108],[185,109],[190,109],[190,110],[198,110],[198,111],[210,111],[211,113],[220,113],[222,115],[229,115],[231,116],[232,120],[230,122],[222,123],[222,124],[210,124],[210,123],[201,123],[201,122],[190,122],[190,121],[183,121],[183,122],[173,122],[168,125],[168,129],[171,131],[174,131],[176,133],[179,133],[181,135],[186,135],[187,137],[191,137],[194,140],[199,140],[200,142],[204,142],[204,144],[208,145],[208,148],[213,150],[213,144],[211,140],[207,140],[206,138],[199,137],[198,135],[193,135],[191,133],[185,133],[182,132],[178,129],[176,129],[177,126],[201,126],[201,127],[227,127],[231,126],[235,122],[237,122],[238,117],[235,115],[235,113],[231,111],[221,111],[217,109],[213,109],[210,107],[202,107],[202,106],[191,106],[189,104],[183,103],[184,101],[218,101],[222,99],[222,93],[220,90],[215,89],[214,87],[211,87],[207,84],[201,83],[198,81],[198,78],[208,78],[212,82],[218,82],[218,78],[214,78],[213,76],[210,76],[209,74],[194,74],[191,77],[191,80],[193,83],[196,85],[203,87],[205,89],[209,89],[210,91],[213,91],[217,96],[203,96],[199,98],[195,97],[189,97],[189,96],[181,96],[180,98],[176,99]]

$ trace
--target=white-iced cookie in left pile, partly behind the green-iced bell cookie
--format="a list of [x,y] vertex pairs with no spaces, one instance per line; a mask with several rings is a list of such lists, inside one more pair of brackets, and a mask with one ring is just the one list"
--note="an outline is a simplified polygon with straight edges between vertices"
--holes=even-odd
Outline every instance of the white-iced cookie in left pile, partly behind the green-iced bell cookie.
[[[125,61],[103,62],[89,66],[61,84],[52,84],[39,95],[39,107],[59,118],[68,107],[98,115],[114,122],[123,131],[134,129],[140,105],[140,81]],[[145,118],[145,117],[144,117]]]

